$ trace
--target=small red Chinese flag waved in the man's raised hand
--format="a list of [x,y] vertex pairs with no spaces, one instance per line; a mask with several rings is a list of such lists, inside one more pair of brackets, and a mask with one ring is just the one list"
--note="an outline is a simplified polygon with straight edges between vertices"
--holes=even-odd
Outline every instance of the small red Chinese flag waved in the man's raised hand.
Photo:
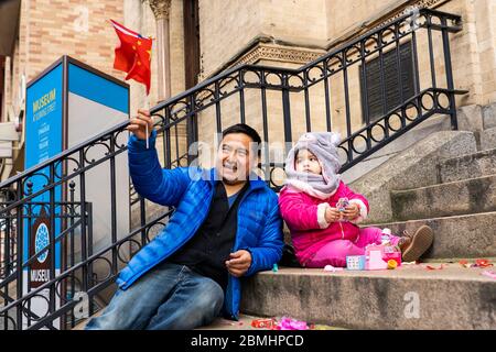
[[149,95],[152,40],[128,30],[114,20],[110,22],[120,40],[120,44],[115,50],[114,68],[127,73],[126,80],[132,78],[147,86],[147,95]]

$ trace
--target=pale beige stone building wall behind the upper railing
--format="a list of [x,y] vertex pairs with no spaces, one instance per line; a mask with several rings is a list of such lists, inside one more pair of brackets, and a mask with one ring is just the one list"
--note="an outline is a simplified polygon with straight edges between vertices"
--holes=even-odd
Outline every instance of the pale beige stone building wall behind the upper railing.
[[[450,0],[450,1],[406,1],[370,2],[347,1],[346,7],[336,1],[230,1],[220,11],[218,1],[201,1],[201,45],[202,77],[208,78],[220,69],[237,64],[249,63],[278,67],[298,68],[303,64],[332,51],[335,45],[349,41],[358,34],[374,29],[414,6],[435,8],[462,15],[463,29],[450,34],[454,88],[468,90],[456,97],[456,106],[488,105],[495,101],[495,0]],[[247,15],[249,13],[249,15]],[[295,22],[296,21],[296,22]],[[308,21],[303,26],[298,21]],[[304,28],[304,30],[303,30]],[[257,30],[258,29],[258,30]],[[411,41],[411,36],[402,43]],[[228,43],[228,44],[227,44]],[[250,46],[251,45],[251,46]],[[428,31],[417,33],[419,89],[433,86],[446,87],[442,35],[432,31],[434,78],[431,75]],[[390,45],[385,52],[392,50]],[[370,58],[374,58],[370,57]],[[370,58],[367,58],[370,59]],[[344,75],[338,73],[330,78],[331,116],[333,130],[346,135],[346,113],[352,119],[352,131],[364,125],[360,92],[360,64],[347,70],[349,111],[346,111]],[[220,103],[223,128],[239,122],[239,95],[234,95]],[[425,105],[430,101],[427,99]],[[448,99],[442,97],[446,105]],[[245,114],[247,123],[262,134],[261,97],[257,90],[245,91]],[[269,142],[282,141],[284,125],[280,92],[267,94]],[[325,130],[325,89],[321,82],[310,89],[311,129]],[[216,130],[215,107],[200,114],[201,140],[213,143]],[[291,94],[292,139],[298,139],[306,130],[303,92]],[[408,110],[409,117],[416,116]],[[391,119],[393,128],[400,125],[399,119]],[[446,124],[442,124],[446,125]],[[448,124],[449,128],[449,124]],[[376,133],[376,131],[375,131]],[[377,131],[380,135],[381,131]],[[212,151],[211,151],[212,153]],[[344,155],[343,155],[344,156]],[[211,163],[212,164],[212,163]]]

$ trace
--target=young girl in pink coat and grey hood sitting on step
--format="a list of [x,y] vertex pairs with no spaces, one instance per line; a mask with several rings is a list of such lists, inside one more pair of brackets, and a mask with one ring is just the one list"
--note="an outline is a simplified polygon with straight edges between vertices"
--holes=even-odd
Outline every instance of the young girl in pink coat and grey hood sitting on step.
[[[305,267],[345,267],[347,255],[364,255],[366,245],[380,244],[384,235],[381,229],[357,226],[367,217],[369,206],[339,179],[339,140],[333,132],[305,133],[285,161],[287,182],[279,206],[296,258]],[[347,198],[347,206],[337,205],[341,198]],[[399,246],[405,262],[413,262],[431,246],[433,232],[423,226],[414,234],[388,238]]]

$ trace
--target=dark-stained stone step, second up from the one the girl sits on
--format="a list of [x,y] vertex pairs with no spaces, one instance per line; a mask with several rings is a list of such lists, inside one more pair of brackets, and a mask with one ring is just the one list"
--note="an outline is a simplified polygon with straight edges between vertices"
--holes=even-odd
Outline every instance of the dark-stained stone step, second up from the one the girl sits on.
[[496,211],[496,175],[391,191],[396,220]]

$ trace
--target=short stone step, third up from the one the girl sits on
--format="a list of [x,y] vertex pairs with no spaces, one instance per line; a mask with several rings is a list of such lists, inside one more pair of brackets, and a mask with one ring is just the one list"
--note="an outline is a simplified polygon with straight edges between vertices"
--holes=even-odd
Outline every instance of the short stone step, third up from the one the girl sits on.
[[441,183],[496,174],[496,148],[448,158],[439,164]]

